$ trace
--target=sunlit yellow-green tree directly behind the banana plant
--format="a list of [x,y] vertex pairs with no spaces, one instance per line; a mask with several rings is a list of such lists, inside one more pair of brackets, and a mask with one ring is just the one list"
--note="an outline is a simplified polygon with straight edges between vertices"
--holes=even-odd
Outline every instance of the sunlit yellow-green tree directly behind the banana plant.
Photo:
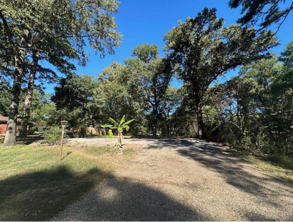
[[100,104],[100,121],[108,116],[118,119],[126,118],[138,121],[132,124],[131,133],[138,134],[144,124],[147,104],[140,84],[141,73],[134,66],[112,63],[98,76],[97,102]]

